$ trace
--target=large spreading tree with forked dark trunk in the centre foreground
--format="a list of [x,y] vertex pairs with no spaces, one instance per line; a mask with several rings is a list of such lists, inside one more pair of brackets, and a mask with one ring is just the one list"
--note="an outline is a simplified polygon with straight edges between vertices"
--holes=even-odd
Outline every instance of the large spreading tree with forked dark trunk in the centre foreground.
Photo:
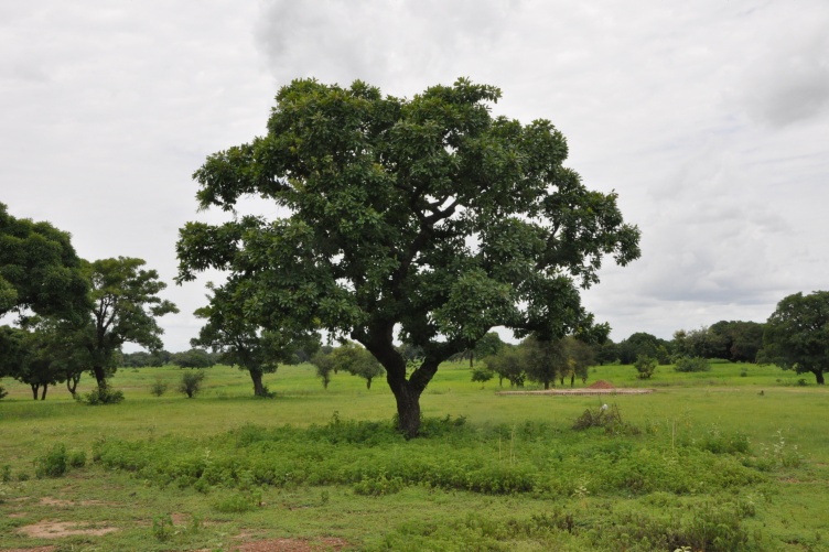
[[[493,117],[499,97],[465,79],[412,99],[360,82],[281,88],[268,133],[208,156],[194,177],[202,208],[232,212],[254,194],[286,216],[189,223],[179,280],[226,270],[257,324],[360,343],[386,369],[400,429],[417,434],[441,361],[495,326],[589,333],[579,288],[599,281],[603,256],[639,256],[616,194],[563,165],[549,121]],[[396,337],[423,350],[408,375]]]

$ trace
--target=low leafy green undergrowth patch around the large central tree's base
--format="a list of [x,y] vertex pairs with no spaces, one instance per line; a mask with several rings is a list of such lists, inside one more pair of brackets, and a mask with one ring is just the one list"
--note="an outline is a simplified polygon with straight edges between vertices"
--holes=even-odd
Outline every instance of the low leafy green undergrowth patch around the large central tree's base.
[[335,418],[308,429],[244,425],[215,437],[101,440],[93,458],[160,487],[250,489],[351,485],[363,495],[403,486],[489,495],[709,494],[763,480],[739,434],[666,442],[655,435],[577,432],[539,422],[472,426],[426,420],[407,441],[391,423]]

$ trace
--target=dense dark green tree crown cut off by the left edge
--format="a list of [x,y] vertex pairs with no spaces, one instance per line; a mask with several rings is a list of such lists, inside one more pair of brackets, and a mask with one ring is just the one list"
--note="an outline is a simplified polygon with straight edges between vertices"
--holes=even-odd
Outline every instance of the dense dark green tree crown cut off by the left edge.
[[87,290],[69,235],[14,218],[0,203],[0,315],[29,309],[78,321],[88,309]]

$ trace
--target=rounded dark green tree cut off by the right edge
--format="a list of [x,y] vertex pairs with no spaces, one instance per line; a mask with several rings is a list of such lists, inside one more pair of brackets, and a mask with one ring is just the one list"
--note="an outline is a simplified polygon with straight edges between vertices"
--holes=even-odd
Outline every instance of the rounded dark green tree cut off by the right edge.
[[829,370],[829,291],[784,297],[766,322],[763,344],[769,362],[797,374],[811,372],[822,386]]

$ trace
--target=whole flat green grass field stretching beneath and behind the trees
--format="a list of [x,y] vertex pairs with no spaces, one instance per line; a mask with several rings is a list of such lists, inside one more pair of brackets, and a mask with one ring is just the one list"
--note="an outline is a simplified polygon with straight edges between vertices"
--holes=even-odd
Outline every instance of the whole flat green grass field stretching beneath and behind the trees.
[[[829,393],[775,367],[596,367],[656,389],[597,398],[498,397],[448,364],[411,442],[383,380],[280,367],[263,400],[214,367],[191,400],[180,377],[120,369],[109,407],[3,380],[0,550],[829,550]],[[602,402],[616,423],[573,429]]]

